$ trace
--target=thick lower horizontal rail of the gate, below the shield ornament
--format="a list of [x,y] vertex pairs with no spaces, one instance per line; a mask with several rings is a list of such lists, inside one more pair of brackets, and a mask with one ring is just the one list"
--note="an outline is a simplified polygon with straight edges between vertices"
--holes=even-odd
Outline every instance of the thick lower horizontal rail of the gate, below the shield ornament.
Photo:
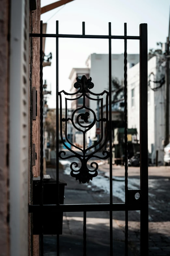
[[35,212],[107,212],[107,211],[138,211],[140,204],[60,204],[60,205],[29,205],[29,213]]

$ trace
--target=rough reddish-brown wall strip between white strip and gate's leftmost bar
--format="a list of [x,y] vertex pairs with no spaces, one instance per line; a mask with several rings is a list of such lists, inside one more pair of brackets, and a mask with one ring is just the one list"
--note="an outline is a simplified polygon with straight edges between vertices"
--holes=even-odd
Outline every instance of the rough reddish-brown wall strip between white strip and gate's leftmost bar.
[[[30,11],[30,33],[40,32],[40,0],[36,0],[37,9]],[[40,39],[30,38],[30,197],[32,200],[32,177],[40,174],[40,119],[39,119],[39,50]],[[32,117],[32,88],[37,90],[37,116],[36,121]],[[32,145],[35,144],[37,160],[35,166],[32,166]],[[39,236],[33,235],[32,216],[29,218],[29,255],[39,256]]]

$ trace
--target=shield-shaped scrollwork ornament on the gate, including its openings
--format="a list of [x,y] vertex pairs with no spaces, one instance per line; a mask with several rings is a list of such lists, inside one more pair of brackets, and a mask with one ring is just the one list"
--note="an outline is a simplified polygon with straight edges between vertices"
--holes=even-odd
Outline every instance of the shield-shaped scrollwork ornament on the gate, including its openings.
[[[76,178],[76,180],[79,180],[79,182],[86,183],[92,178],[96,177],[98,175],[97,169],[98,164],[97,162],[91,162],[88,164],[88,161],[91,158],[97,158],[97,159],[107,159],[109,157],[109,152],[104,150],[102,152],[102,156],[98,156],[97,152],[99,152],[101,149],[104,148],[104,146],[107,143],[108,140],[108,97],[109,93],[107,91],[103,91],[102,93],[96,94],[90,91],[94,84],[92,83],[92,78],[90,77],[87,79],[86,76],[82,76],[81,79],[78,77],[76,78],[77,82],[74,84],[74,88],[78,89],[75,93],[67,93],[64,90],[59,92],[60,97],[60,136],[61,141],[65,148],[67,148],[72,155],[65,156],[66,152],[64,150],[59,152],[59,157],[63,160],[70,159],[70,158],[77,158],[79,161],[72,162],[70,164],[71,169],[71,176]],[[62,97],[64,95],[64,97]],[[71,98],[67,98],[66,95],[70,95]],[[99,96],[97,98],[97,96]],[[62,116],[62,100],[65,98],[65,116]],[[67,102],[70,100],[78,100],[82,99],[82,106],[75,109],[71,117],[68,117],[67,114]],[[89,101],[99,101],[100,102],[100,118],[97,119],[96,113],[94,110],[86,106],[86,98],[89,99]],[[105,99],[105,106],[104,106],[104,99]],[[105,108],[106,115],[104,117],[103,109]],[[90,115],[93,116],[93,120],[90,120]],[[67,127],[68,122],[71,122],[71,125],[78,130],[79,133],[83,136],[83,145],[82,147],[79,147],[78,145],[75,145],[70,142],[69,138],[67,137]],[[101,127],[101,135],[98,141],[95,142],[94,145],[86,146],[86,134],[87,132],[92,129],[92,127],[97,123],[100,122]],[[62,124],[65,123],[65,134],[63,134],[62,130]],[[105,125],[105,131],[104,131],[104,123]],[[65,137],[64,137],[65,136]],[[67,143],[66,143],[67,142]],[[69,144],[69,146],[68,146]],[[78,149],[78,151],[75,151],[75,149]],[[112,152],[111,152],[112,153]],[[65,156],[65,157],[64,157]],[[81,166],[79,166],[79,164]],[[73,169],[74,167],[74,169]],[[89,168],[94,169],[89,169]]]

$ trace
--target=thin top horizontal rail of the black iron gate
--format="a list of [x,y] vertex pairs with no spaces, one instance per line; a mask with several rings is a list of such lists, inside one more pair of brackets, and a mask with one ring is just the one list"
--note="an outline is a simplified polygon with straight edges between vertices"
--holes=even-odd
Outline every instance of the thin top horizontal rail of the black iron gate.
[[111,36],[111,35],[68,35],[68,34],[35,34],[30,33],[30,37],[61,37],[61,38],[97,38],[97,39],[133,39],[139,40],[140,36]]

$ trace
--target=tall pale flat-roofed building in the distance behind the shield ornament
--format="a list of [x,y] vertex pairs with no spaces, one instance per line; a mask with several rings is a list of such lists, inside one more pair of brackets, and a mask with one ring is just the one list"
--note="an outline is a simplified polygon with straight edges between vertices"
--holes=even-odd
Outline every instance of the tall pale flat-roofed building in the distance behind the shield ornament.
[[[139,54],[128,54],[127,62],[130,66],[134,66],[139,62]],[[117,77],[119,81],[124,79],[124,54],[112,54],[112,77]],[[86,60],[87,68],[73,68],[69,79],[71,80],[71,93],[75,92],[74,83],[76,82],[76,77],[81,78],[82,75],[86,75],[87,78],[92,77],[92,82],[94,87],[90,90],[93,93],[102,93],[104,90],[108,91],[109,87],[109,56],[108,54],[91,54]],[[94,95],[91,95],[92,98],[95,98]],[[88,103],[88,102],[87,102]],[[77,106],[73,106],[72,109],[76,109]],[[105,104],[105,103],[104,103]],[[97,101],[90,100],[89,107],[94,112],[97,109]],[[89,122],[93,121],[93,114],[90,111]],[[96,126],[93,126],[87,137],[95,137]]]

